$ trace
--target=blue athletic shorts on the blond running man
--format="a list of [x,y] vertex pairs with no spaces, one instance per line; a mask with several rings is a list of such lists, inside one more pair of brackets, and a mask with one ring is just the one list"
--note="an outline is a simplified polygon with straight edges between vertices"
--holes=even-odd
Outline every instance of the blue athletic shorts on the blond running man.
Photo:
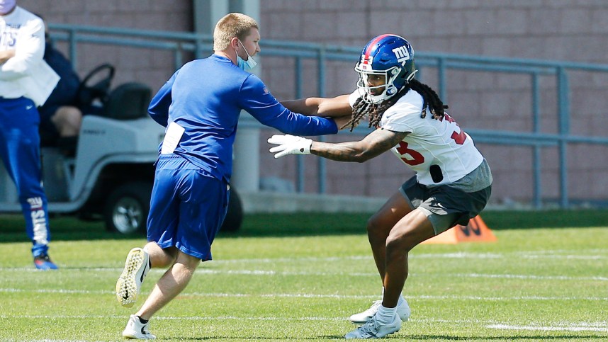
[[159,157],[147,239],[162,249],[211,260],[211,244],[228,208],[230,186],[176,154]]

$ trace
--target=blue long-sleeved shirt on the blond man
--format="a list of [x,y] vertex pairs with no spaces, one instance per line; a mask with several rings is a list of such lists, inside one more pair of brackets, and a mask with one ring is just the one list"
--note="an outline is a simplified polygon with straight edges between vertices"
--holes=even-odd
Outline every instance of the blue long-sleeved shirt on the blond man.
[[160,125],[175,122],[184,127],[174,154],[227,181],[232,175],[232,145],[241,110],[286,134],[328,135],[338,131],[334,120],[288,110],[256,75],[218,55],[184,64],[148,108]]

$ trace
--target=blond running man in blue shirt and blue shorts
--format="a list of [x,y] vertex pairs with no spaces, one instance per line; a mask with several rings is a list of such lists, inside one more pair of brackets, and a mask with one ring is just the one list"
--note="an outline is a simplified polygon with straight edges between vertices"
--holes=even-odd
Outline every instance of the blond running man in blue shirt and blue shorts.
[[[132,249],[116,283],[125,307],[137,300],[150,268],[169,268],[123,336],[150,339],[149,320],[184,290],[201,261],[211,260],[211,244],[227,210],[232,145],[241,110],[264,125],[298,135],[328,135],[342,119],[293,113],[249,70],[260,51],[259,26],[242,13],[229,13],[213,33],[214,53],[184,64],[150,103],[150,116],[167,127],[154,175],[147,240]],[[323,113],[317,113],[322,115]]]

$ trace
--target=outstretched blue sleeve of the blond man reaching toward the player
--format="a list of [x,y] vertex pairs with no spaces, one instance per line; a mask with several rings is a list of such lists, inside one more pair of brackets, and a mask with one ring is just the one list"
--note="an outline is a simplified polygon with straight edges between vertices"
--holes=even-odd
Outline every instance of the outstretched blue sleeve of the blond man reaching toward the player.
[[338,132],[336,122],[318,116],[293,113],[279,103],[264,82],[254,74],[242,84],[240,106],[266,126],[291,135],[330,135]]

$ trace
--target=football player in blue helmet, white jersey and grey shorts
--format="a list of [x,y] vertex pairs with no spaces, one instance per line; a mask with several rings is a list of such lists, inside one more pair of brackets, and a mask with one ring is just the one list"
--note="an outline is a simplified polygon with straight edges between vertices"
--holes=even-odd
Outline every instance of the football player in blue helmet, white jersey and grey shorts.
[[466,225],[488,203],[492,174],[488,162],[458,123],[444,111],[437,93],[414,76],[414,50],[398,35],[379,35],[361,52],[355,71],[357,90],[334,99],[286,103],[291,110],[314,113],[320,105],[349,103],[354,127],[364,116],[376,128],[358,142],[316,142],[274,135],[270,152],[315,154],[334,161],[364,162],[391,151],[416,175],[402,184],[367,224],[383,298],[350,317],[361,324],[346,338],[380,338],[394,334],[410,317],[402,296],[407,256],[417,244],[454,227]]

